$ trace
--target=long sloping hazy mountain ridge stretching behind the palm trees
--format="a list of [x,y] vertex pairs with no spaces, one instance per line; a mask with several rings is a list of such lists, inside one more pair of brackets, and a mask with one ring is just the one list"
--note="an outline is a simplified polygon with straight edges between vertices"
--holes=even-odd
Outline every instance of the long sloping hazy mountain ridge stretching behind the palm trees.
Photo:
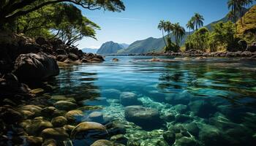
[[[247,9],[244,8],[244,13],[246,11],[247,11]],[[222,18],[220,20],[209,23],[205,27],[208,28],[210,31],[212,31],[212,24],[219,23],[220,21],[222,21],[224,23],[227,22],[228,21],[227,15],[225,16],[225,18]],[[193,33],[193,32],[191,32],[191,33]],[[174,40],[173,34],[170,34],[170,35],[171,35],[171,39]],[[187,39],[187,36],[189,36],[189,32],[186,32],[184,38],[181,40],[180,45],[184,45],[184,42]],[[165,36],[165,37],[167,37],[167,36]],[[118,54],[122,54],[122,55],[124,55],[124,54],[140,54],[140,53],[149,53],[152,51],[161,52],[163,47],[165,47],[165,42],[163,41],[162,37],[158,38],[158,39],[149,37],[148,39],[143,39],[140,41],[133,42],[131,45],[129,45],[129,47],[127,47],[127,49],[118,51]]]

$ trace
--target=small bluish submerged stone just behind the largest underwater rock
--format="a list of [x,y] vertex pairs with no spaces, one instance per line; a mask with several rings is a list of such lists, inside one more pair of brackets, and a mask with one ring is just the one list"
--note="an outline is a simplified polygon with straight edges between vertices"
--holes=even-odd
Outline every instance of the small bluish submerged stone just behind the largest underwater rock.
[[132,92],[123,92],[120,95],[120,102],[124,106],[141,105],[142,102],[138,100],[138,96]]

